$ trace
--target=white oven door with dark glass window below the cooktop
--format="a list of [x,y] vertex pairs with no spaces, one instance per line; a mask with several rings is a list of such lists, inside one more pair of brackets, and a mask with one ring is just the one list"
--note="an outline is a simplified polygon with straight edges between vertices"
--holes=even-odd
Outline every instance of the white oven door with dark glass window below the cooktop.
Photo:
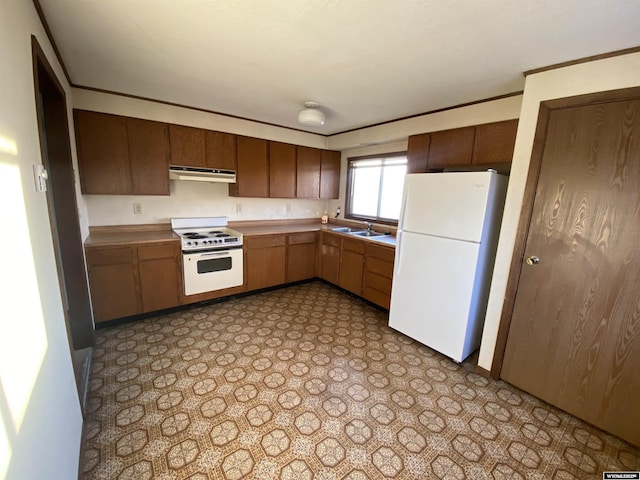
[[242,285],[242,248],[184,253],[184,294],[211,292]]

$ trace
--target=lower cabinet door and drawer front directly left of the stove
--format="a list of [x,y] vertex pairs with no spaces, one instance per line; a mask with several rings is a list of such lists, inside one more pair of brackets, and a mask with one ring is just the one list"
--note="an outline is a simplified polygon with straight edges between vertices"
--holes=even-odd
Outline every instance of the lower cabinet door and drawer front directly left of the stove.
[[182,272],[179,251],[177,243],[138,247],[143,312],[177,307],[180,304]]

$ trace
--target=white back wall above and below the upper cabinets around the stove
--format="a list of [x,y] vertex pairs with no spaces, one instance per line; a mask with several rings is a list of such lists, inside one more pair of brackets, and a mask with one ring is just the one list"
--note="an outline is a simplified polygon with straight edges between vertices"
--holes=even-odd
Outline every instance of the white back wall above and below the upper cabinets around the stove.
[[[73,105],[97,112],[327,148],[327,139],[322,135],[90,90],[74,89]],[[171,181],[170,188],[171,195],[168,197],[85,195],[89,224],[165,223],[171,217],[181,216],[228,216],[232,221],[317,218],[327,209],[326,200],[229,197],[228,187],[224,184]],[[141,215],[134,215],[133,203],[142,203]]]

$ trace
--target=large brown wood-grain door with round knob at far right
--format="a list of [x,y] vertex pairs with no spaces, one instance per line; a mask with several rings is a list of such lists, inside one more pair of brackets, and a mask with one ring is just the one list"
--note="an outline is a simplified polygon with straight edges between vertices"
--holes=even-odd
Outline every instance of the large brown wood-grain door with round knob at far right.
[[501,376],[640,445],[640,100],[546,131]]

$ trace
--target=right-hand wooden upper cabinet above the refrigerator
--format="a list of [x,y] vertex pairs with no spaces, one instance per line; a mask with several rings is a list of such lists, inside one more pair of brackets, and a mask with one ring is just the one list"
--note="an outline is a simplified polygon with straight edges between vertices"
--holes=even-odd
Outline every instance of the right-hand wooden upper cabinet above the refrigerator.
[[517,130],[518,120],[476,126],[472,163],[477,165],[511,163]]

